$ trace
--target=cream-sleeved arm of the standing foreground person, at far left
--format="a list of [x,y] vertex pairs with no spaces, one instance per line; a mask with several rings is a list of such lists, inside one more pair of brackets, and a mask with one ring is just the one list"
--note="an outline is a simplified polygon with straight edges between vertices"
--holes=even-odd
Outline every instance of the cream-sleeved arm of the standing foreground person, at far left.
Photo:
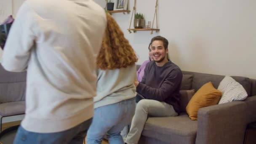
[[2,57],[2,65],[8,71],[22,72],[27,69],[35,40],[33,30],[36,24],[32,14],[29,5],[24,2],[11,26]]

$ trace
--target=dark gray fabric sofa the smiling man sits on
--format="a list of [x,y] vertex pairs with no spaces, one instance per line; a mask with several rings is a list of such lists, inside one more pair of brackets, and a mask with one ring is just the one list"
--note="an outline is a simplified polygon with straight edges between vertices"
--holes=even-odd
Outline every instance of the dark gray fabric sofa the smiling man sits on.
[[[209,81],[218,88],[223,78],[183,71],[181,90],[197,91]],[[201,108],[197,121],[190,120],[186,111],[177,117],[149,117],[139,144],[243,144],[247,124],[256,121],[256,80],[233,78],[247,91],[249,97],[245,101]]]

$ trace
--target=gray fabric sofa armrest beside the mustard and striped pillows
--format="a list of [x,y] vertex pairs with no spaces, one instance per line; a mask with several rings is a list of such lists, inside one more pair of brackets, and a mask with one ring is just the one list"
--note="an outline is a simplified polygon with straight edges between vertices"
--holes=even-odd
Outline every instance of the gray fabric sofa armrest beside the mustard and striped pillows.
[[243,144],[247,125],[245,101],[232,101],[198,111],[196,144]]

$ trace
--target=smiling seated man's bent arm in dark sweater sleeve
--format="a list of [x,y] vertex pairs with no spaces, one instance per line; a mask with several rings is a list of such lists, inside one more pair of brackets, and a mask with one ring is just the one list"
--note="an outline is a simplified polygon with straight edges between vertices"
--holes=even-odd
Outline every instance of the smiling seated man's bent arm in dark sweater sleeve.
[[170,96],[170,93],[173,93],[173,91],[180,85],[181,79],[181,71],[179,69],[174,69],[165,79],[160,88],[151,88],[144,83],[139,83],[137,85],[137,92],[146,99],[165,101],[165,99]]

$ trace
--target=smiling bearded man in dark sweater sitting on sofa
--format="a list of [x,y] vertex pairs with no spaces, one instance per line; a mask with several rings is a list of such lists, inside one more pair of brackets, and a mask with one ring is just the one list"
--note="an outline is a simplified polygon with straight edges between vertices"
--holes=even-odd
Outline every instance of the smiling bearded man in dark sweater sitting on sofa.
[[148,116],[168,117],[179,114],[181,69],[168,60],[168,40],[165,37],[153,37],[151,43],[154,61],[145,67],[142,81],[135,81],[137,93],[145,99],[140,100],[136,106],[126,144],[139,142]]

